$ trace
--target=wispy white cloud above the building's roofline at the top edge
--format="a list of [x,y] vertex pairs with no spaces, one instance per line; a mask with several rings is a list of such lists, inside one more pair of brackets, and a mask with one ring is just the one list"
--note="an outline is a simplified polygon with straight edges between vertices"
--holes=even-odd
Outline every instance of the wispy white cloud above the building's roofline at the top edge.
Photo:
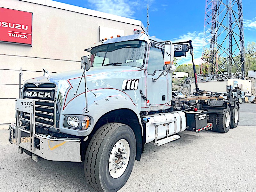
[[[100,12],[133,18],[136,10],[147,9],[147,0],[138,2],[136,0],[87,0],[92,9]],[[149,4],[154,0],[150,0]],[[146,10],[145,10],[146,11]]]

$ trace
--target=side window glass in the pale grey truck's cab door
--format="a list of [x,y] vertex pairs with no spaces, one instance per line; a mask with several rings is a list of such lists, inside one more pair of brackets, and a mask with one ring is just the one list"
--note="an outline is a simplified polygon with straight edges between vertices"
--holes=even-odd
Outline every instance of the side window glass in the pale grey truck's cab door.
[[155,75],[156,71],[163,71],[164,68],[164,50],[150,47],[148,58],[148,75]]

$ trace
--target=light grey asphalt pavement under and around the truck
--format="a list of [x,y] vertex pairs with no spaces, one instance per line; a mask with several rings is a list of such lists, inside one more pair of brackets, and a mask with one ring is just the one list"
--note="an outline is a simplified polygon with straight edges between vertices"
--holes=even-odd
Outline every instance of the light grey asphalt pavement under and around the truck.
[[[256,189],[256,104],[240,105],[240,122],[228,133],[184,131],[163,146],[145,145],[141,161],[120,192],[241,191]],[[0,191],[94,191],[83,163],[53,162],[19,154],[0,130]]]

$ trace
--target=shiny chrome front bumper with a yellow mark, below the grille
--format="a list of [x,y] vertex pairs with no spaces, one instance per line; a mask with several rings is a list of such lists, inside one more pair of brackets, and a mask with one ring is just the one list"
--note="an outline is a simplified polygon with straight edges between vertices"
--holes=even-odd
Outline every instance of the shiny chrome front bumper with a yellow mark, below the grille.
[[[80,139],[53,138],[42,134],[34,133],[31,138],[30,131],[19,127],[20,132],[16,136],[15,125],[9,126],[9,142],[26,149],[31,153],[51,161],[81,162]],[[33,146],[33,147],[31,147]]]

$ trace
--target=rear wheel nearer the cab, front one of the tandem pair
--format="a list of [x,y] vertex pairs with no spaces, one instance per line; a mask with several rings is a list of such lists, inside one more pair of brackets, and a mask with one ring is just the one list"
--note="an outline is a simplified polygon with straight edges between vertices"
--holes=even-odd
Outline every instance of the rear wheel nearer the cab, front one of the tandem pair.
[[224,109],[223,114],[217,114],[217,128],[220,133],[227,133],[231,125],[231,112],[230,108]]

